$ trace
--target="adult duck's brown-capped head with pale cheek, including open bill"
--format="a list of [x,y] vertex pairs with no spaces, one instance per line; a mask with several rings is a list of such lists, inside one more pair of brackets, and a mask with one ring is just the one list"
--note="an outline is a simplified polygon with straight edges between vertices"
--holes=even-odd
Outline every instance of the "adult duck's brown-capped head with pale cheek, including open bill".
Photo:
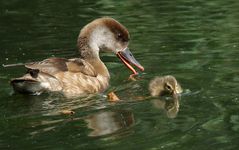
[[130,36],[128,30],[113,18],[103,17],[93,20],[83,27],[78,38],[81,57],[99,58],[100,51],[111,51],[133,72],[132,65],[144,70],[128,48]]

